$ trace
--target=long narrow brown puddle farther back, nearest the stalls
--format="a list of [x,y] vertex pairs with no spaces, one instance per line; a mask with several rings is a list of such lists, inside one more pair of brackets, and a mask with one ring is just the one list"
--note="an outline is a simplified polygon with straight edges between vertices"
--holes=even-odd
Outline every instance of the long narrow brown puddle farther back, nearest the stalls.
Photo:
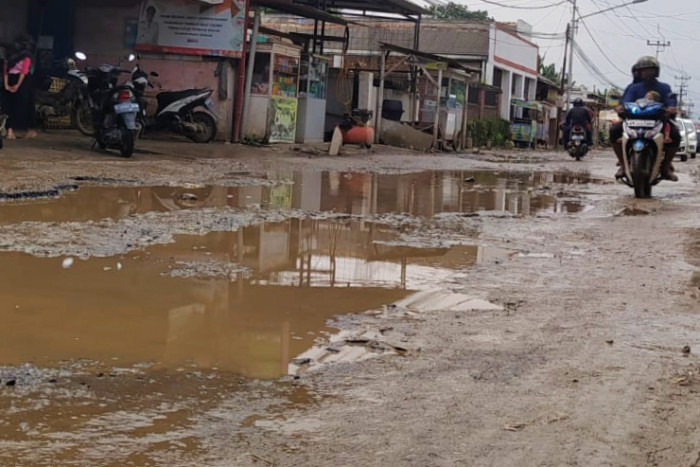
[[[474,183],[465,179],[474,178]],[[294,172],[270,178],[293,181],[276,186],[97,187],[81,186],[53,199],[0,204],[0,224],[23,221],[86,222],[133,214],[205,207],[271,206],[370,215],[509,211],[576,213],[583,201],[547,192],[551,184],[588,184],[583,175],[553,173],[421,172],[379,175],[353,172]]]

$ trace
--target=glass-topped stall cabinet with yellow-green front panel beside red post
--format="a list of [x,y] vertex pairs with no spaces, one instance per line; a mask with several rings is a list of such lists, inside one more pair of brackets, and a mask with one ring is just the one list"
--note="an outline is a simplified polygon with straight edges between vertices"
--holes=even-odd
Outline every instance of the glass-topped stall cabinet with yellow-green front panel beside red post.
[[296,45],[258,44],[246,136],[271,143],[295,141],[300,60]]

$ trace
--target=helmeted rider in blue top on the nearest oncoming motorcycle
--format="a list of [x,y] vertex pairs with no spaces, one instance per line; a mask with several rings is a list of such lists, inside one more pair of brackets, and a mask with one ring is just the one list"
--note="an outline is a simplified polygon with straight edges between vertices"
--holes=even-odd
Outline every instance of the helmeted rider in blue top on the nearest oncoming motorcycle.
[[[666,105],[667,116],[674,115],[676,113],[676,97],[671,91],[671,86],[658,80],[661,70],[658,60],[651,56],[644,56],[637,60],[637,63],[632,69],[633,72],[635,68],[639,74],[640,81],[638,83],[632,83],[627,87],[622,95],[621,105],[616,109],[617,112],[620,113],[623,111],[622,105],[628,102],[635,102],[637,99],[642,99],[650,91],[656,91],[661,96],[661,101]],[[622,132],[622,122],[615,123],[610,127],[610,141],[613,151],[615,151],[615,155],[617,156],[618,165],[620,166],[615,174],[616,178],[620,178],[624,175]],[[671,143],[664,146],[664,160],[661,164],[661,176],[665,180],[677,182],[678,177],[673,173],[672,161],[681,144],[681,134],[675,125],[671,125],[670,137]]]

